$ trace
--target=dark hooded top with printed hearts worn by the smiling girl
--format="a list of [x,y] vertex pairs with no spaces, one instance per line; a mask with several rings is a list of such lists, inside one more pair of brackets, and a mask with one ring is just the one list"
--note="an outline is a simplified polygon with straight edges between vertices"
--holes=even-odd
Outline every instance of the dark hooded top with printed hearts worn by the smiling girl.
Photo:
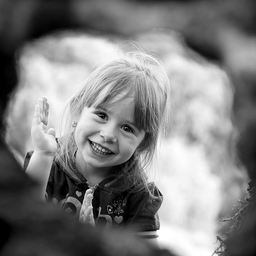
[[[24,170],[32,154],[33,151],[27,152]],[[127,178],[127,172],[120,170],[90,187],[77,169],[67,166],[55,154],[46,189],[47,201],[60,206],[64,212],[78,219],[85,191],[89,188],[93,191],[96,226],[131,228],[143,237],[157,237],[156,231],[160,228],[157,211],[163,202],[163,195],[153,182],[149,183],[149,188],[156,198],[152,198],[146,191],[136,189],[131,179]]]

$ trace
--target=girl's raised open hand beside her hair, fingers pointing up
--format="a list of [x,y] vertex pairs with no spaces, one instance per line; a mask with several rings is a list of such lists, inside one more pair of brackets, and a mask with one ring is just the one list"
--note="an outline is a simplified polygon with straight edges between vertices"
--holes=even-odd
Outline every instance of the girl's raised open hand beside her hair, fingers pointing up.
[[32,121],[31,136],[35,151],[40,154],[55,154],[57,142],[55,140],[55,130],[50,128],[47,131],[49,114],[49,103],[45,96],[38,99],[35,105],[35,113]]

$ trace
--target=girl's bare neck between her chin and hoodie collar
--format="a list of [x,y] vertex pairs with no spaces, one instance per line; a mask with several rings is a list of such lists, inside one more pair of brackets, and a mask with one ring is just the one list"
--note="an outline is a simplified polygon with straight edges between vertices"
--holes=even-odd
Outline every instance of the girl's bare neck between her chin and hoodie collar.
[[90,186],[95,186],[113,173],[113,166],[96,168],[87,164],[79,155],[76,155],[76,168],[87,179]]

